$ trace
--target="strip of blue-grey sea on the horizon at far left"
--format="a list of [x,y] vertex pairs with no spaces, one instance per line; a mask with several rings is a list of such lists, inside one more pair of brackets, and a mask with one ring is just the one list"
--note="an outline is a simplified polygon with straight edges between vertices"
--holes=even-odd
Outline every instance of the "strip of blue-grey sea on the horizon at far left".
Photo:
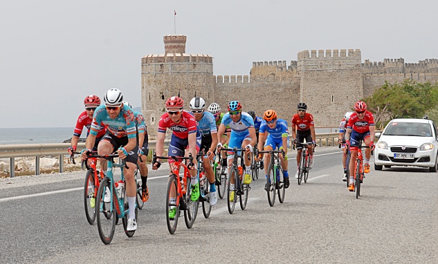
[[[74,127],[0,129],[0,144],[62,143],[73,136]],[[85,137],[86,133],[83,133]]]

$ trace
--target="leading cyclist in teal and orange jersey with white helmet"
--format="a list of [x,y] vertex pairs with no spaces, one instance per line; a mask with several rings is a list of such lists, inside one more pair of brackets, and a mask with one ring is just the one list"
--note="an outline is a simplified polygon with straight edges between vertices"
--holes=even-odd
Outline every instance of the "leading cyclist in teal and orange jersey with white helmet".
[[[93,115],[93,123],[85,142],[85,149],[81,151],[82,160],[86,160],[87,154],[91,151],[96,135],[102,123],[107,132],[100,140],[98,154],[105,155],[116,151],[120,158],[126,160],[127,167],[123,168],[126,182],[126,196],[129,208],[136,207],[137,185],[134,180],[134,169],[138,161],[138,142],[136,139],[136,122],[132,109],[122,103],[123,95],[118,89],[109,89],[104,96],[104,105],[99,106]],[[107,169],[107,162],[100,160],[103,170]],[[137,229],[135,210],[129,210],[127,231]]]

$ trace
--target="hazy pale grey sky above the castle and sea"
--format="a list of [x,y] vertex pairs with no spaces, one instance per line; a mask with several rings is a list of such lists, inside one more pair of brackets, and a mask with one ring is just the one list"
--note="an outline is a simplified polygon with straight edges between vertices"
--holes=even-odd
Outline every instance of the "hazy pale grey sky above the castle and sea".
[[163,36],[215,75],[249,75],[253,62],[311,49],[360,48],[362,61],[438,58],[438,1],[0,1],[0,128],[75,126],[86,95],[119,88],[140,106],[144,55]]

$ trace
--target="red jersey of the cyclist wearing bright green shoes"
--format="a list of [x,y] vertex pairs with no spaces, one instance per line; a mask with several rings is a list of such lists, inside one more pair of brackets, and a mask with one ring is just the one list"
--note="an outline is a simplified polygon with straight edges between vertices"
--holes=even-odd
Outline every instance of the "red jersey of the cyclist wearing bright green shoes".
[[183,111],[181,120],[175,123],[170,119],[169,114],[165,113],[161,115],[160,122],[158,122],[158,132],[166,133],[166,129],[172,130],[178,138],[188,138],[189,134],[197,133],[197,120],[188,111]]

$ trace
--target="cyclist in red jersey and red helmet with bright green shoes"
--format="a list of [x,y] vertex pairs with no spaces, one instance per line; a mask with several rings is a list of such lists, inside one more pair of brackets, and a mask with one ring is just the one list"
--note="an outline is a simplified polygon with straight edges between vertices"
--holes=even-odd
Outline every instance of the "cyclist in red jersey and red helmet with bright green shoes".
[[[165,106],[167,113],[161,115],[160,121],[158,122],[158,133],[156,135],[155,144],[156,155],[163,155],[166,130],[170,129],[173,132],[167,153],[169,153],[169,155],[184,157],[185,149],[188,149],[188,152],[192,153],[192,156],[196,158],[201,147],[201,132],[198,129],[197,121],[188,111],[183,111],[184,101],[180,97],[170,97],[167,99]],[[172,160],[169,160],[169,162],[172,171],[173,162]],[[156,159],[156,162],[152,164],[152,169],[156,170],[160,166],[160,159]],[[188,169],[192,176],[190,181],[190,185],[192,186],[191,199],[195,201],[199,198],[199,182],[196,164],[189,164]],[[170,202],[174,205],[170,207],[168,214],[169,218],[173,220],[176,214],[176,198],[171,198]]]

